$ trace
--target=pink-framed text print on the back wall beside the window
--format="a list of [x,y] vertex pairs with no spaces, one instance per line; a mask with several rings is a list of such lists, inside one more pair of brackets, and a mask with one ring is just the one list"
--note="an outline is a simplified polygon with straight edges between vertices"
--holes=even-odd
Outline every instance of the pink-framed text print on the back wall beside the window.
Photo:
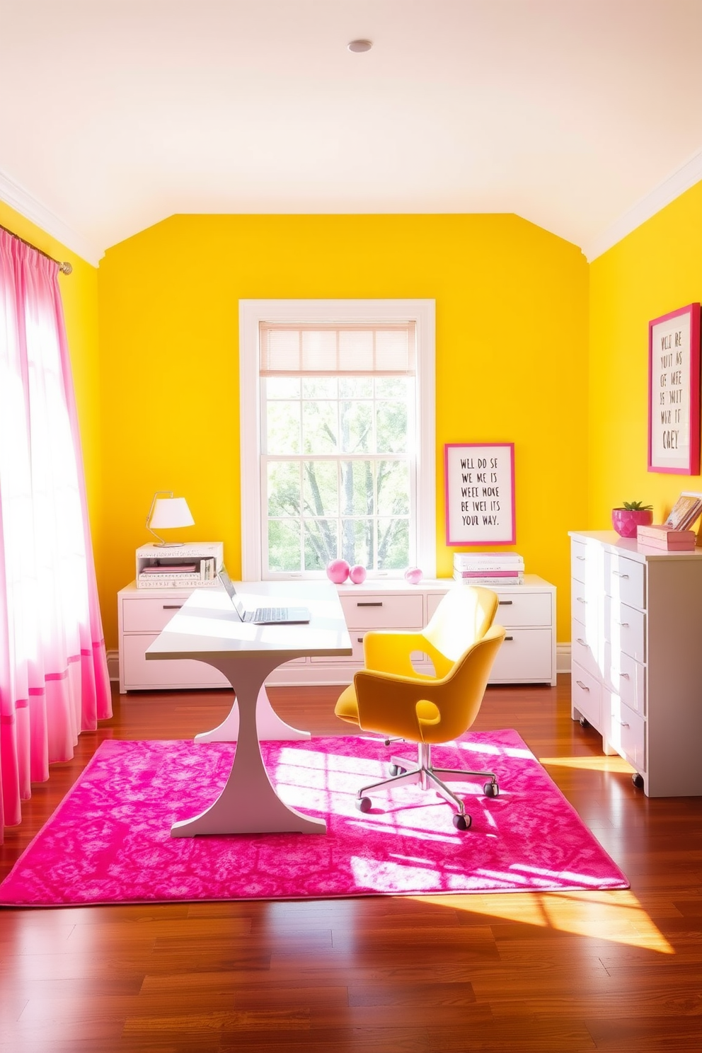
[[444,445],[446,544],[514,544],[515,443]]

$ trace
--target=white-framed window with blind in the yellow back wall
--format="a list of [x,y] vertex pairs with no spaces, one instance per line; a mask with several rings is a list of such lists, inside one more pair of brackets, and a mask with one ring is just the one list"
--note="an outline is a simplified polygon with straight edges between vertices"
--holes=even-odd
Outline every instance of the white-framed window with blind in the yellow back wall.
[[436,569],[434,302],[240,304],[242,573]]

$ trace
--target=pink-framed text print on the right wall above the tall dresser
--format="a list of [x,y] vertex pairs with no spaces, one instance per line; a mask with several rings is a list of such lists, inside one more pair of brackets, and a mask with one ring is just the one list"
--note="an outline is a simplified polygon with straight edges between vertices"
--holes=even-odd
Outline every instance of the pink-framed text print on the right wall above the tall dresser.
[[700,472],[700,304],[648,323],[648,471]]

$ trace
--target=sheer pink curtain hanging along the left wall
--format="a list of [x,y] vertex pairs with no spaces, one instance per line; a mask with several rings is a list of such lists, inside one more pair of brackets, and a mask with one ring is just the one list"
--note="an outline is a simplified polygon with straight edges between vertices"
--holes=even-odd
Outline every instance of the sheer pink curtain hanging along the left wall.
[[58,265],[0,230],[0,840],[109,716]]

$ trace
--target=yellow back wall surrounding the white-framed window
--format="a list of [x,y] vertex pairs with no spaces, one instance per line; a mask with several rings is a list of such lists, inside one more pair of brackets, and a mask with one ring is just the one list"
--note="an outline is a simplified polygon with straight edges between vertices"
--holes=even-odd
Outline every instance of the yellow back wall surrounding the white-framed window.
[[174,216],[99,270],[107,645],[118,589],[156,490],[186,497],[183,540],[224,541],[240,573],[238,301],[430,297],[437,305],[437,565],[443,444],[514,441],[517,543],[559,587],[569,638],[567,531],[587,513],[588,269],[513,215]]

